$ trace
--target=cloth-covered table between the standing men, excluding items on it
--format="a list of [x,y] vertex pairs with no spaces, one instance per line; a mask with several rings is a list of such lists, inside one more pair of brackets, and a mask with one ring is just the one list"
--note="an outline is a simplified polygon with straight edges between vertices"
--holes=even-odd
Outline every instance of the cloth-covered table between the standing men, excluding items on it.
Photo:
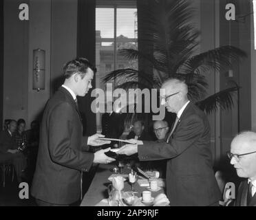
[[[114,164],[100,164],[98,166],[94,179],[92,180],[92,184],[89,186],[89,189],[83,197],[81,206],[95,206],[102,199],[107,199],[107,186],[111,184],[108,177],[112,174],[109,169],[114,166]],[[124,173],[126,173],[125,170]],[[134,189],[138,192],[138,194],[136,194],[138,197],[141,197],[142,191],[147,190],[146,187],[139,186],[137,182],[134,184]],[[131,186],[127,181],[125,181],[124,190],[131,190]],[[158,192],[152,192],[151,195],[152,197],[156,197],[156,195],[160,194],[161,192],[164,192],[163,188]]]

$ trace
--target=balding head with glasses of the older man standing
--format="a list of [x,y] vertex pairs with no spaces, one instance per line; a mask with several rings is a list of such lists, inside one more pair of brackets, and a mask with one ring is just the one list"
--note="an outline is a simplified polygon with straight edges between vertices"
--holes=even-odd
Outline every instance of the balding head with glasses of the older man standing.
[[184,81],[169,79],[162,84],[160,89],[160,96],[165,97],[161,104],[165,104],[167,111],[178,113],[189,100],[187,93],[188,87]]

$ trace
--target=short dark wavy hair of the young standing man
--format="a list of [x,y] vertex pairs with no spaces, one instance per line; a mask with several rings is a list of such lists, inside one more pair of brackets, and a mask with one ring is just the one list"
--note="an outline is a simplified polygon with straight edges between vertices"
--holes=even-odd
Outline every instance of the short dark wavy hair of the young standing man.
[[63,67],[64,77],[70,78],[73,74],[81,74],[82,78],[85,77],[85,74],[87,74],[87,69],[90,68],[94,72],[94,74],[97,72],[96,67],[92,65],[92,63],[89,63],[89,61],[86,58],[76,58],[72,61],[68,61],[65,63]]

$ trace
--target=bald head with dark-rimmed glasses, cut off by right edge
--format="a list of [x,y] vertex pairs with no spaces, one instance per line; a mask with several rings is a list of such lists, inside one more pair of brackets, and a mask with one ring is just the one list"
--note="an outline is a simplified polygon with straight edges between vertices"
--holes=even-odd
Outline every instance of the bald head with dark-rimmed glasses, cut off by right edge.
[[[256,179],[256,133],[244,131],[231,142],[231,164],[237,170],[239,177]],[[254,153],[255,152],[255,153]],[[242,155],[246,154],[246,155]]]

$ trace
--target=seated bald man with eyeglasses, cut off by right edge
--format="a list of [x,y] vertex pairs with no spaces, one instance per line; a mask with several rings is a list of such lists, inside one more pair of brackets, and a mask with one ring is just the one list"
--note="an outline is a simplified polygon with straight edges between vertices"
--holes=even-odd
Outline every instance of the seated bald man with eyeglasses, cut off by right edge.
[[237,175],[246,178],[238,188],[235,206],[256,206],[256,133],[239,133],[231,142],[228,157]]

